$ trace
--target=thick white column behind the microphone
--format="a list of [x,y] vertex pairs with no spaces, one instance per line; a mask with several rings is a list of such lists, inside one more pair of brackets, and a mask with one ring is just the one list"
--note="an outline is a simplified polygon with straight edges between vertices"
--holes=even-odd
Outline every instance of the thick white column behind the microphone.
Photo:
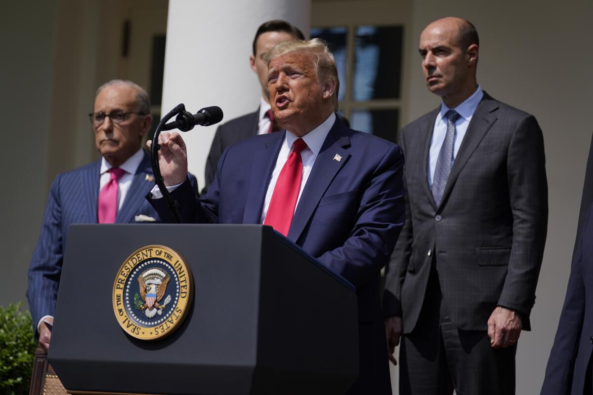
[[[283,19],[308,36],[311,0],[171,0],[161,114],[179,103],[196,113],[218,105],[222,122],[259,105],[261,89],[249,67],[253,37],[260,24]],[[204,186],[204,167],[216,126],[183,133],[189,171]]]

